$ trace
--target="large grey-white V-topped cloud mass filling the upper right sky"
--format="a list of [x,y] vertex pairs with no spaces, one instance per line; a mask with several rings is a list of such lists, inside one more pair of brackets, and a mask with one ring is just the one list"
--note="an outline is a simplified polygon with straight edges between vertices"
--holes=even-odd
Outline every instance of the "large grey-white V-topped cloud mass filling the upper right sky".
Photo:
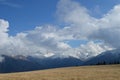
[[120,47],[120,5],[97,19],[78,2],[60,0],[57,14],[69,26],[66,32],[71,33],[74,39],[102,40],[112,47]]

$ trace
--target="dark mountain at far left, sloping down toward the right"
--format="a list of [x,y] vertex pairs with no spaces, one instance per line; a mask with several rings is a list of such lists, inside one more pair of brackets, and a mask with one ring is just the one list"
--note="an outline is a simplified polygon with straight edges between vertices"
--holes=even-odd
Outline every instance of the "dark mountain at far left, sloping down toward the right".
[[28,60],[24,56],[7,56],[2,55],[4,58],[0,62],[0,72],[20,72],[20,71],[32,71],[42,69],[42,66],[39,63]]

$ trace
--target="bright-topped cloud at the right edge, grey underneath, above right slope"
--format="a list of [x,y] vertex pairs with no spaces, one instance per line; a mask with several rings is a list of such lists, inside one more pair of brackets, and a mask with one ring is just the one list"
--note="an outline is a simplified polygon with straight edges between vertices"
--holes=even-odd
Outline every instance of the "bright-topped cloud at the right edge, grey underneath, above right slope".
[[120,48],[120,5],[116,5],[112,10],[101,18],[97,25],[99,29],[95,31],[94,38],[101,39],[111,46]]

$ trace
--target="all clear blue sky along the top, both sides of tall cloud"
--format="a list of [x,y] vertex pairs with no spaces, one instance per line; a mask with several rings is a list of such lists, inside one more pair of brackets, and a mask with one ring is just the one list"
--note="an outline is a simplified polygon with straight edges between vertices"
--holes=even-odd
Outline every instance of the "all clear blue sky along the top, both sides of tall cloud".
[[[0,18],[10,23],[10,35],[43,24],[57,24],[56,5],[59,0],[0,0]],[[74,0],[86,7],[91,16],[100,18],[120,0]]]

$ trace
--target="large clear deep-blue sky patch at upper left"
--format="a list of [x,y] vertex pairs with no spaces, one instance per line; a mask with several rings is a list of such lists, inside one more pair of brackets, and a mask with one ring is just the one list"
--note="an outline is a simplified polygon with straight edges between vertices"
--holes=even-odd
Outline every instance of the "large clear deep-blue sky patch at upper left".
[[[9,3],[9,4],[3,4]],[[10,34],[31,30],[37,25],[54,24],[57,0],[1,0],[0,18],[10,22]],[[14,6],[16,5],[16,6]]]

